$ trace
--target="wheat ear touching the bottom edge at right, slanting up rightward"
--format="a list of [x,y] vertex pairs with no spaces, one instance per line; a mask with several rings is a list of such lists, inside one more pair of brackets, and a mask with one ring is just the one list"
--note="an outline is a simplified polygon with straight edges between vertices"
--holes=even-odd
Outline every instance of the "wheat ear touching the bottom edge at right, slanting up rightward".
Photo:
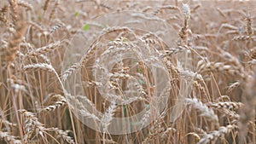
[[217,141],[219,137],[230,133],[231,130],[236,129],[236,127],[236,125],[221,126],[218,130],[214,130],[207,135],[203,135],[200,141],[197,142],[197,144],[207,144],[210,141]]

